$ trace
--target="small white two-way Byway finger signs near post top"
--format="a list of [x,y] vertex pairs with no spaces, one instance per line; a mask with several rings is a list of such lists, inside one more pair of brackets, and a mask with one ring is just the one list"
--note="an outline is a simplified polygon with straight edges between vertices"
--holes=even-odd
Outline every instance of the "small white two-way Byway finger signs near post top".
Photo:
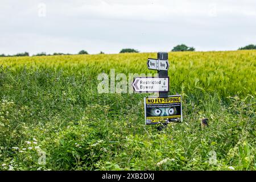
[[169,63],[168,60],[164,59],[147,59],[147,68],[148,69],[155,69],[155,70],[162,70],[162,71],[167,71],[169,68]]

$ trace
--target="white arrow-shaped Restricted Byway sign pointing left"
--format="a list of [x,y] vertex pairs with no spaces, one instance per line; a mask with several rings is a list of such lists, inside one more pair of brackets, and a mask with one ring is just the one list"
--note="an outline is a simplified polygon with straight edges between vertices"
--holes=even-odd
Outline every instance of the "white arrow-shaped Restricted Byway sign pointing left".
[[169,92],[169,77],[136,77],[133,81],[135,92]]

